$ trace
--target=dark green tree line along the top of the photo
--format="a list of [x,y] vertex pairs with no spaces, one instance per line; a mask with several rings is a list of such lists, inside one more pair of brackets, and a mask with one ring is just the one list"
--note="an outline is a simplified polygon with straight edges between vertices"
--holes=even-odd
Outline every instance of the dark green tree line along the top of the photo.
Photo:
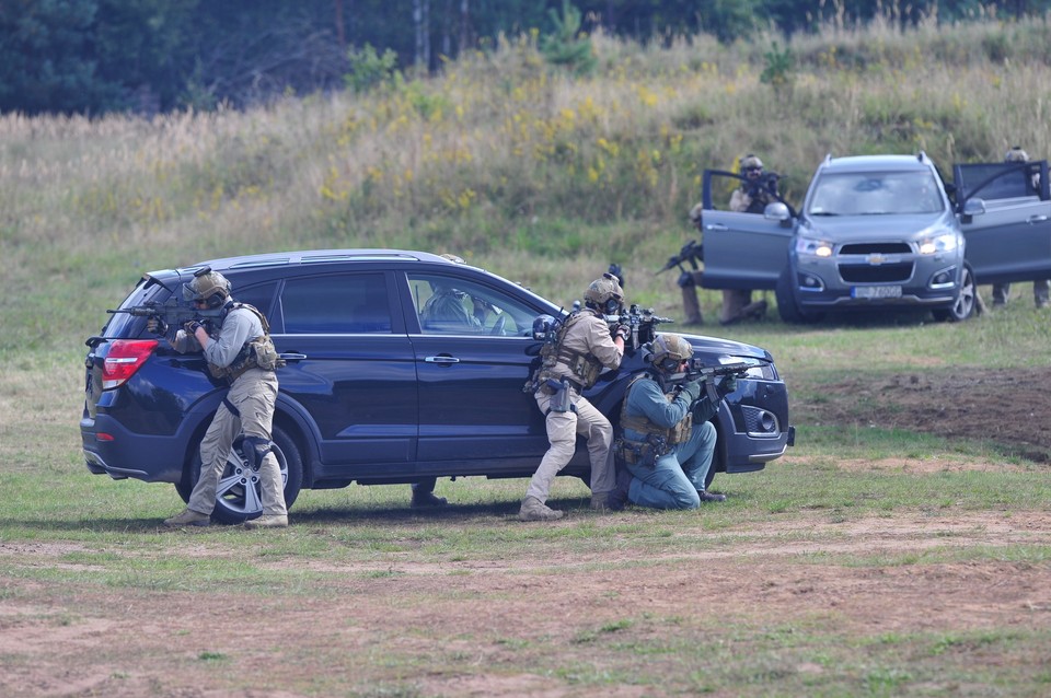
[[354,61],[440,69],[500,35],[786,37],[828,22],[1046,15],[1051,0],[0,0],[0,113],[151,115],[339,90]]

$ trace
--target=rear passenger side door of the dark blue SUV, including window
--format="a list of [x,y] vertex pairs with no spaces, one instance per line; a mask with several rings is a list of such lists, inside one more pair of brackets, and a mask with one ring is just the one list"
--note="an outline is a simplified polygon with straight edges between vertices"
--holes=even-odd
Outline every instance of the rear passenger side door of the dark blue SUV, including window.
[[288,360],[278,380],[315,426],[315,479],[382,476],[416,457],[416,367],[394,299],[392,272],[374,265],[303,268],[282,283],[270,317]]

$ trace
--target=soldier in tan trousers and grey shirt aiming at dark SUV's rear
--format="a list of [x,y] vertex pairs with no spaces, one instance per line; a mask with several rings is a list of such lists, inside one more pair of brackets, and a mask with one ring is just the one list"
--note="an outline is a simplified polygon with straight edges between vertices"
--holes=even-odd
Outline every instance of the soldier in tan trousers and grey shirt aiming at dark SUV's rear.
[[[249,528],[274,528],[288,525],[281,470],[274,456],[270,429],[277,403],[279,364],[266,318],[251,305],[230,296],[230,282],[218,271],[198,272],[183,287],[183,296],[201,310],[222,309],[220,319],[206,328],[189,322],[175,333],[172,347],[176,351],[203,351],[208,370],[217,379],[230,383],[216,416],[200,442],[200,477],[189,496],[186,509],[164,521],[166,526],[207,526],[216,508],[219,477],[234,440],[244,434],[242,451],[249,466],[258,472],[262,486],[263,514],[245,522]],[[151,319],[147,327],[165,334],[161,321]]]

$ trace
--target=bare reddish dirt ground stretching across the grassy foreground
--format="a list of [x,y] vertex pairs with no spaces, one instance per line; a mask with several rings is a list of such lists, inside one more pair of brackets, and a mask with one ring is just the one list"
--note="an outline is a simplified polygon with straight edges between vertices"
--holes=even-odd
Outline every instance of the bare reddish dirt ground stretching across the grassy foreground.
[[[578,513],[555,525],[573,530],[587,516],[590,525],[617,526],[631,515]],[[615,632],[625,621],[639,641],[684,628],[740,641],[750,624],[833,623],[840,632],[866,637],[1051,627],[1047,565],[983,559],[855,567],[828,557],[1047,546],[1051,513],[834,523],[802,512],[785,524],[734,533],[726,545],[725,532],[690,528],[677,535],[695,545],[663,556],[644,546],[613,557],[543,546],[513,558],[494,550],[485,559],[434,563],[411,555],[365,566],[296,556],[259,563],[344,572],[327,578],[323,594],[114,592],[97,585],[60,596],[20,585],[18,594],[0,595],[0,695],[286,698],[324,695],[319,686],[328,680],[343,687],[336,693],[354,686],[369,694],[372,686],[374,695],[394,695],[384,693],[393,685],[423,696],[563,697],[587,695],[588,685],[551,675],[545,660],[556,653],[559,663],[613,671],[619,655],[603,652],[591,636],[603,628]],[[48,565],[65,551],[63,545],[4,544],[0,566],[33,563],[34,557]],[[811,554],[827,561],[800,563]],[[522,671],[530,653],[538,666]],[[603,694],[652,691],[623,685]]]

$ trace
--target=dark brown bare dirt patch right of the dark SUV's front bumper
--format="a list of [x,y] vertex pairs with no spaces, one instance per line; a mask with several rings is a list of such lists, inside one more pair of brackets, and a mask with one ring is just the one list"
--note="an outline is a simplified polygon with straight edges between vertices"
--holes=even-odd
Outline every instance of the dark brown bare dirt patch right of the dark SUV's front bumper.
[[[809,392],[809,391],[808,391]],[[821,399],[793,402],[797,424],[897,428],[992,441],[1020,457],[1051,462],[1051,368],[887,377],[847,375],[820,386]]]

